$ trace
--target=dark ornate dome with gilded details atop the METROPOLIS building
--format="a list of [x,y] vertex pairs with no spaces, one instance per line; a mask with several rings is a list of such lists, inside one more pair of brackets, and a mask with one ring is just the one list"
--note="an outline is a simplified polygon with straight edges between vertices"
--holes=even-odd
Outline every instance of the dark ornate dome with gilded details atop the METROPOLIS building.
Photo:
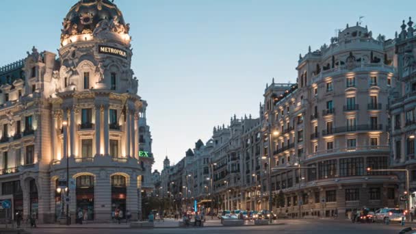
[[78,34],[92,34],[103,20],[114,25],[114,32],[129,31],[129,25],[125,24],[122,13],[112,1],[81,0],[70,8],[64,18],[61,40]]

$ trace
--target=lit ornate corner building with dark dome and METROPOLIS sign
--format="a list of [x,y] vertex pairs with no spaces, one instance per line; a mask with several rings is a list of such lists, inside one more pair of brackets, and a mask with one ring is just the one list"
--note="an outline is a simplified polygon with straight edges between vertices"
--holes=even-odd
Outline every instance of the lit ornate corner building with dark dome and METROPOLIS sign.
[[58,55],[34,47],[0,68],[0,197],[55,222],[68,166],[72,218],[105,222],[120,209],[138,219],[153,155],[129,24],[111,1],[81,0],[62,25]]

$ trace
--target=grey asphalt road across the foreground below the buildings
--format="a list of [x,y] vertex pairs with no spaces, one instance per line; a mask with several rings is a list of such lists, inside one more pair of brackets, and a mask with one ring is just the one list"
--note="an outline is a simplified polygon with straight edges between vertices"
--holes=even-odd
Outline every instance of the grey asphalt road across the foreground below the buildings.
[[[416,224],[414,224],[416,226]],[[198,233],[198,234],[216,234],[216,233],[377,233],[393,234],[398,233],[403,227],[399,224],[352,224],[346,220],[287,220],[283,225],[272,226],[239,226],[239,227],[204,227],[204,228],[172,228],[172,229],[31,229],[31,233],[76,233],[76,234],[127,234],[127,233]]]

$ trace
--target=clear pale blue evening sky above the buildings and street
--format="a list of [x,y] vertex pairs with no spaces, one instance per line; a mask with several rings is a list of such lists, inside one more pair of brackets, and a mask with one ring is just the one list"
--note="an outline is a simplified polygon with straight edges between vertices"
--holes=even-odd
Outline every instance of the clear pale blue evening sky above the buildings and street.
[[[59,47],[62,18],[76,0],[2,1],[0,66]],[[132,68],[148,101],[155,169],[233,114],[259,115],[265,83],[294,82],[299,53],[329,43],[359,16],[392,38],[415,1],[116,0],[131,25]]]

